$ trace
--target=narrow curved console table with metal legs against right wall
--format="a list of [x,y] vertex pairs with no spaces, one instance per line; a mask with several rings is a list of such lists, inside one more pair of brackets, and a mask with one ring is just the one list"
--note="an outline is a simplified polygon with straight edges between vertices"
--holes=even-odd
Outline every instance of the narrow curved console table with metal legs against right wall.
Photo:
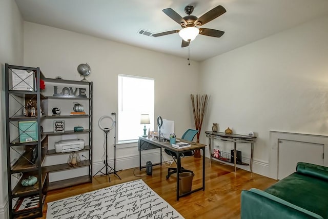
[[[240,134],[226,134],[224,132],[213,132],[206,131],[206,136],[209,138],[209,150],[210,150],[210,162],[212,162],[213,156],[213,144],[214,140],[220,140],[224,142],[233,142],[234,143],[234,166],[236,172],[237,166],[237,143],[250,143],[251,144],[251,161],[250,161],[250,170],[252,174],[252,164],[253,164],[253,150],[254,150],[254,142],[256,140],[255,136],[248,135],[240,135]],[[221,160],[220,160],[221,161]]]

